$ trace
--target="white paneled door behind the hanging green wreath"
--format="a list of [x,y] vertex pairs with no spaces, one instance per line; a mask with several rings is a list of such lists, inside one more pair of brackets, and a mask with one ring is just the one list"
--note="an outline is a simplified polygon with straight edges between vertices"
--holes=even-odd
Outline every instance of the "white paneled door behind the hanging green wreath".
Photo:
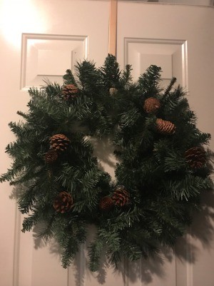
[[[16,111],[26,108],[28,87],[43,84],[44,77],[61,81],[65,69],[72,68],[76,60],[88,57],[97,66],[103,64],[108,53],[109,2],[1,0],[0,5],[0,173],[4,173],[10,164],[5,146],[14,140],[8,123],[18,121]],[[133,64],[133,76],[137,77],[156,59],[154,64],[163,66],[165,83],[170,76],[176,76],[188,87],[199,128],[209,133],[213,133],[213,14],[213,9],[205,7],[118,1],[117,51],[121,68]],[[9,184],[1,185],[2,286],[96,286],[103,282],[108,286],[214,285],[214,234],[208,218],[208,212],[213,211],[212,194],[205,198],[210,205],[204,216],[195,219],[195,239],[189,239],[188,245],[181,241],[177,256],[165,252],[163,264],[149,260],[125,264],[123,272],[110,269],[91,273],[81,255],[84,250],[76,265],[64,270],[54,242],[45,246],[33,239],[33,233],[21,233],[22,218],[11,192]]]

